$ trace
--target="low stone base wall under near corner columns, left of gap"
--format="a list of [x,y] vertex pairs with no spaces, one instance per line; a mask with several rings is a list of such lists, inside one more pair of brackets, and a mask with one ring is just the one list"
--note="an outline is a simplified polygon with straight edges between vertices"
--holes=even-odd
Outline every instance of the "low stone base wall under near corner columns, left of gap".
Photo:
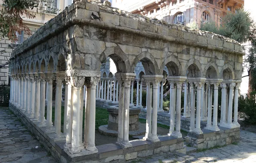
[[173,136],[159,136],[160,142],[148,142],[144,140],[130,141],[131,148],[122,149],[116,144],[106,144],[96,146],[97,154],[90,154],[82,150],[79,154],[70,154],[64,150],[65,140],[54,139],[53,133],[46,133],[46,127],[39,127],[38,123],[32,121],[16,106],[9,104],[9,109],[21,120],[27,129],[34,133],[39,142],[52,154],[58,163],[106,163],[106,162],[125,162],[138,157],[148,157],[154,154],[166,152],[186,153],[184,139],[177,139]]

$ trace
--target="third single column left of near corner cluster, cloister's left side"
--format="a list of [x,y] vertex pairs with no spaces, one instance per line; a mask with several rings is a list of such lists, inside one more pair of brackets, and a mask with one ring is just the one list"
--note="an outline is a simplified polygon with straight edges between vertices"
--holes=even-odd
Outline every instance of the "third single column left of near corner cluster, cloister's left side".
[[46,77],[43,72],[38,72],[40,77],[41,91],[40,91],[40,116],[39,123],[40,126],[45,125],[45,97],[46,97]]

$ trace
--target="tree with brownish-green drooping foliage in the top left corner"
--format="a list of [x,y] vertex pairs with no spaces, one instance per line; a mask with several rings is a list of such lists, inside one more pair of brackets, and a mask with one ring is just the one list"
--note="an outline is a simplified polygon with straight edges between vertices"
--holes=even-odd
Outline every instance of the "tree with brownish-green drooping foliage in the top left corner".
[[[0,10],[0,36],[7,36],[12,42],[18,40],[16,32],[21,30],[31,35],[30,29],[23,23],[23,16],[33,19],[36,13],[55,10],[52,8],[53,0],[3,0]],[[33,10],[33,11],[31,11]]]

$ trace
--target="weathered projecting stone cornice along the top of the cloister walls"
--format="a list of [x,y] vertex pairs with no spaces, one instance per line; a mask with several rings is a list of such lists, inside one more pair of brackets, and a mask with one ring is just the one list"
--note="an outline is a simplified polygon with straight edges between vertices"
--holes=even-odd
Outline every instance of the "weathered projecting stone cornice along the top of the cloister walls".
[[[86,3],[86,5],[92,5],[92,4]],[[94,5],[94,6],[98,6],[98,5]],[[100,14],[112,14],[112,13],[109,13],[107,9],[103,8],[102,6],[98,6],[98,7],[100,7],[100,9],[98,9]],[[183,45],[205,48],[208,50],[215,50],[215,51],[226,52],[230,54],[244,55],[244,52],[241,51],[241,45],[238,42],[214,33],[200,31],[200,30],[192,30],[182,25],[168,24],[165,21],[153,21],[152,19],[149,19],[144,16],[140,16],[142,21],[138,21],[137,15],[130,14],[128,12],[127,12],[128,14],[126,14],[125,11],[122,11],[125,14],[117,15],[119,17],[119,20],[124,18],[129,18],[129,19],[133,19],[134,22],[137,21],[137,23],[139,24],[135,28],[125,27],[125,26],[122,26],[122,24],[120,23],[119,25],[114,25],[114,24],[111,24],[110,22],[104,22],[104,20],[103,21],[90,20],[88,18],[85,18],[84,16],[85,12],[91,12],[85,9],[85,4],[84,6],[78,3],[72,4],[69,8],[65,9],[55,18],[47,22],[44,26],[40,27],[40,29],[37,30],[37,32],[33,36],[31,36],[30,38],[25,40],[21,45],[15,48],[15,50],[12,53],[12,59],[13,57],[16,57],[20,54],[25,53],[31,48],[36,47],[40,43],[46,42],[48,39],[52,38],[55,35],[58,35],[60,32],[63,32],[68,27],[73,26],[75,24],[90,25],[90,26],[95,26],[101,29],[108,29],[108,30],[119,30],[126,33],[144,36],[147,38],[161,39],[168,42],[176,42]],[[125,15],[128,15],[128,16],[125,16]],[[58,24],[58,26],[56,26],[55,24]],[[146,25],[150,29],[154,29],[154,31],[145,31],[145,30],[143,31],[139,27],[140,24]],[[162,30],[165,31],[165,33],[159,33],[158,28],[162,28]],[[169,33],[168,36],[166,32]],[[173,36],[170,36],[172,35],[173,32],[182,32],[184,36],[183,38],[176,38],[176,37],[174,38]],[[199,39],[198,41],[189,40],[189,36],[185,36],[185,33],[187,33],[187,35],[188,34],[193,36],[195,35],[196,37],[201,36],[208,40],[209,39],[213,41],[218,40],[222,42],[222,47],[211,45],[209,41],[205,44],[205,42],[204,43],[200,42]],[[225,47],[225,42],[229,44],[233,44],[234,46],[232,46],[232,49],[226,48],[226,47],[229,47],[229,44],[226,45]]]

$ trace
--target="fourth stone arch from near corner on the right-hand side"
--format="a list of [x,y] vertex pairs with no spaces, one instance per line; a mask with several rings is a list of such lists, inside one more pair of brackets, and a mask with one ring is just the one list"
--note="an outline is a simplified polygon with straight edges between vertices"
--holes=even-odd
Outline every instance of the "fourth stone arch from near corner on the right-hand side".
[[198,60],[190,59],[183,69],[183,76],[187,77],[202,77],[201,64]]

